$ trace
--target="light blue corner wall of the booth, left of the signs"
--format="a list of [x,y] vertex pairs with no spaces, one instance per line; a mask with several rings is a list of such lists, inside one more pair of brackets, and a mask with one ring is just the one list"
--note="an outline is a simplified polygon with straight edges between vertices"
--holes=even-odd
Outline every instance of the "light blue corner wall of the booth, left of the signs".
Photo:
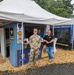
[[17,23],[13,25],[14,27],[14,39],[10,39],[10,62],[13,66],[17,65],[17,54],[16,51],[22,48],[22,44],[17,43]]

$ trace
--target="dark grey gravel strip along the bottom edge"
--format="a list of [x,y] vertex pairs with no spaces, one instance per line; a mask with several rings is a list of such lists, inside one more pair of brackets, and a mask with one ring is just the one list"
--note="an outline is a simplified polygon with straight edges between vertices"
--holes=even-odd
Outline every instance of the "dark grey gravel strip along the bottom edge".
[[42,67],[28,68],[26,71],[0,71],[0,75],[74,75],[74,63],[51,64]]

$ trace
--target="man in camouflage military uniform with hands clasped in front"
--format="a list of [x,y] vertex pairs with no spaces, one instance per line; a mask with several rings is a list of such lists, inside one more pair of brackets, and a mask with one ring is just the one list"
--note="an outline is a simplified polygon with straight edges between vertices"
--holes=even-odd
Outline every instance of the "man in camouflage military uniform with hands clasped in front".
[[33,64],[35,65],[38,55],[40,54],[39,48],[41,46],[41,38],[37,35],[37,29],[33,29],[33,33],[34,34],[29,38],[29,44],[31,48],[29,63],[33,61]]

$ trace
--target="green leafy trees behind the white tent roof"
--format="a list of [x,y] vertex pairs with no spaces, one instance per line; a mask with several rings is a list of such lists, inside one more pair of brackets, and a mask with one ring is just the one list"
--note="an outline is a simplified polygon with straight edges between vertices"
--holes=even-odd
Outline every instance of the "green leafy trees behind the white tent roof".
[[35,0],[45,10],[62,16],[71,17],[73,11],[73,5],[71,0]]

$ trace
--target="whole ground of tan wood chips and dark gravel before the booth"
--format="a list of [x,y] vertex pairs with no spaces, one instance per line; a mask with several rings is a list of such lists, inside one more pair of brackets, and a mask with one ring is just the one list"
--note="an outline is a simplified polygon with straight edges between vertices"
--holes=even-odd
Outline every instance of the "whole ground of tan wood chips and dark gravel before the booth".
[[51,63],[44,58],[37,61],[37,67],[25,64],[15,68],[0,55],[0,75],[74,75],[74,51],[57,49],[54,56]]

